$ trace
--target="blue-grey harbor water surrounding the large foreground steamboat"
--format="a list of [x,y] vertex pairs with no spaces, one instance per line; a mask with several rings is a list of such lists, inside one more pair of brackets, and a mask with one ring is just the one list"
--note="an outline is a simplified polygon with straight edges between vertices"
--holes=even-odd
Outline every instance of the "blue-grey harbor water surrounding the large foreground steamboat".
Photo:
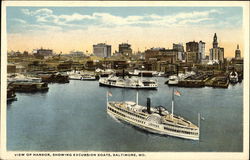
[[[139,104],[171,111],[172,87],[158,78],[157,90],[139,90]],[[43,93],[16,93],[7,106],[9,151],[242,152],[243,82],[220,88],[180,88],[174,114],[198,124],[200,140],[161,136],[114,120],[106,112],[111,101],[136,99],[136,90],[100,87],[98,81],[71,80],[49,84]]]

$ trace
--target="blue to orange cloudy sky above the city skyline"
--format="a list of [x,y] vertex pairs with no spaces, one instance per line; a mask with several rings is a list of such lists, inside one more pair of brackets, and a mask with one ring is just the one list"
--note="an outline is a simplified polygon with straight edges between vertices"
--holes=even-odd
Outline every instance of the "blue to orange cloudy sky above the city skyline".
[[93,44],[129,43],[133,51],[172,48],[173,43],[204,41],[206,54],[214,33],[225,57],[243,48],[241,7],[7,7],[7,48],[50,48],[92,53]]

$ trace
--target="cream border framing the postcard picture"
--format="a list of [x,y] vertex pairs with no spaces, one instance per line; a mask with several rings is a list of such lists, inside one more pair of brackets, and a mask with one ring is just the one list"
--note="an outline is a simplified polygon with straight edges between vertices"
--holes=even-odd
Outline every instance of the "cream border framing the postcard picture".
[[[243,7],[243,30],[244,30],[244,107],[243,107],[243,152],[146,152],[146,157],[61,157],[64,159],[248,159],[249,157],[249,2],[245,1],[3,1],[2,2],[2,30],[1,30],[1,155],[0,159],[59,159],[58,157],[16,157],[15,153],[36,153],[36,152],[7,152],[6,151],[6,71],[7,71],[7,32],[6,32],[6,6],[187,6],[187,7],[208,7],[208,6],[238,6]],[[41,152],[39,152],[41,153]],[[54,153],[54,152],[42,152]],[[60,152],[60,153],[82,153]],[[86,153],[86,152],[85,152]],[[107,153],[107,152],[88,152]],[[122,153],[122,152],[116,152]],[[136,152],[140,153],[140,152]],[[141,152],[142,153],[142,152]],[[144,152],[143,152],[144,153]],[[61,159],[60,158],[60,159]]]

